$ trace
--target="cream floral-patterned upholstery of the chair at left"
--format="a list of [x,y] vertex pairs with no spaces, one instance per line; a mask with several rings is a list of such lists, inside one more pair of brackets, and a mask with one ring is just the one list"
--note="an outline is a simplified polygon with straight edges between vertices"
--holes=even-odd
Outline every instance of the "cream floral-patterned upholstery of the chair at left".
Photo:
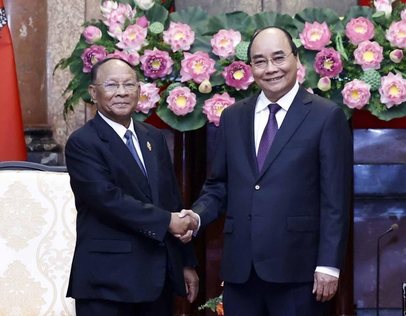
[[75,315],[75,223],[69,174],[0,171],[0,315]]

